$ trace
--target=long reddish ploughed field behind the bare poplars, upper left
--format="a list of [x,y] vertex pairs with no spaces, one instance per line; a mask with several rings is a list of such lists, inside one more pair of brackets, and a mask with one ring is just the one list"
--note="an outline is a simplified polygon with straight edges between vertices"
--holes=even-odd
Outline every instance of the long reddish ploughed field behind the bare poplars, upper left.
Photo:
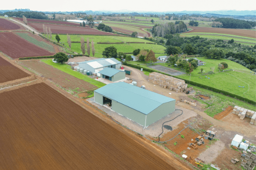
[[[39,32],[43,32],[42,23],[28,23],[29,26],[32,26]],[[47,27],[51,28],[52,34],[90,34],[90,35],[115,35],[110,32],[103,32],[93,28],[87,27],[75,27],[75,26],[64,26],[56,24],[44,24]]]

